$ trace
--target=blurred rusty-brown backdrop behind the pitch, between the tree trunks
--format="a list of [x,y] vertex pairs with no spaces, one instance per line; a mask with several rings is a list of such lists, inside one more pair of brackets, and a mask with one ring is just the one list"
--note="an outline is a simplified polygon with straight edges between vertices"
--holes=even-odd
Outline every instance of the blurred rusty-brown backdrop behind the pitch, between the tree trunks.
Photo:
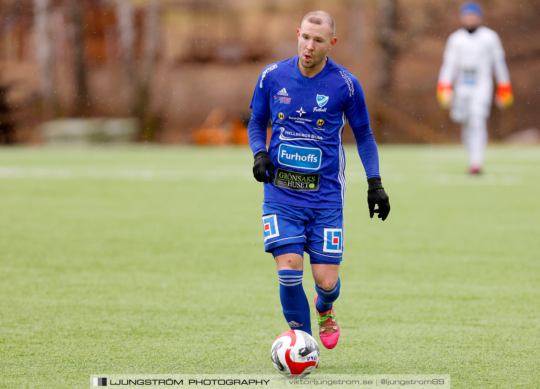
[[[81,0],[84,47],[90,88],[89,115],[131,115],[130,84],[121,64],[118,17],[111,2]],[[514,107],[492,110],[490,137],[538,126],[540,95],[540,32],[538,1],[480,1],[485,21],[497,31],[507,52]],[[69,8],[50,2],[54,80],[59,99],[55,115],[70,115],[73,104],[72,28]],[[360,80],[379,141],[457,141],[457,126],[438,108],[434,94],[442,52],[449,33],[459,25],[455,0],[398,0],[392,27],[391,68],[381,74],[380,12],[367,1],[162,1],[159,50],[151,77],[147,110],[159,114],[160,142],[190,141],[215,107],[229,117],[249,114],[256,80],[267,64],[296,55],[296,28],[305,13],[324,9],[336,19],[338,44],[329,56]],[[146,3],[133,2],[136,66],[143,59]],[[39,68],[32,2],[0,5],[0,83],[9,84],[10,103],[18,112],[18,139],[37,141],[40,106]],[[381,91],[383,77],[389,89]],[[17,115],[16,113],[14,113]],[[350,135],[350,133],[349,133]],[[345,138],[350,140],[349,138]]]

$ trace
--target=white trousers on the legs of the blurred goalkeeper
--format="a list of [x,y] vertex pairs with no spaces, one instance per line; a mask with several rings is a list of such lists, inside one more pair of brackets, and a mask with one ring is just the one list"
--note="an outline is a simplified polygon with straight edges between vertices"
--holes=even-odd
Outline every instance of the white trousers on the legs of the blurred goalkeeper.
[[469,115],[461,123],[461,140],[469,154],[469,166],[480,168],[484,161],[485,147],[488,144],[487,118]]

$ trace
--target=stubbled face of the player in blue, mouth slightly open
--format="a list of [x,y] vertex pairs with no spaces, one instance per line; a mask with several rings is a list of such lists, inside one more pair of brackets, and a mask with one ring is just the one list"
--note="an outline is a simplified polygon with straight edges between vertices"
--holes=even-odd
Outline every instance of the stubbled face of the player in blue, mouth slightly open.
[[303,22],[298,32],[298,55],[303,67],[314,67],[326,57],[330,44],[330,26]]

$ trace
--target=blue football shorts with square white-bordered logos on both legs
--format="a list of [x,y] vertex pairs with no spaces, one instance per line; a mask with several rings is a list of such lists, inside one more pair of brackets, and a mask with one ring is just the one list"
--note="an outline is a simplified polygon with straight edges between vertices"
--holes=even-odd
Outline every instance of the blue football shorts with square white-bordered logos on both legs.
[[[339,264],[343,258],[343,209],[264,202],[262,230],[265,251],[274,256],[286,254],[282,251],[300,255],[306,251],[310,263],[329,264]],[[280,251],[283,246],[286,247]]]

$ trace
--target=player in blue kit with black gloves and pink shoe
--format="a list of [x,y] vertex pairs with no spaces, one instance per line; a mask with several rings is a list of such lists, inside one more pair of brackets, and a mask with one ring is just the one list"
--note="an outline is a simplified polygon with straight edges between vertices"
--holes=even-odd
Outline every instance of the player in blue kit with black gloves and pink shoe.
[[[341,137],[347,120],[366,170],[370,217],[378,213],[385,220],[390,204],[381,185],[362,87],[326,56],[338,40],[334,19],[325,11],[309,12],[296,33],[299,55],[265,67],[257,81],[249,145],[255,159],[253,175],[264,182],[265,251],[275,258],[287,324],[312,333],[302,288],[305,251],[315,281],[319,336],[333,349],[340,335],[333,303],[339,296],[343,257],[346,186]],[[272,134],[267,150],[268,119]]]

